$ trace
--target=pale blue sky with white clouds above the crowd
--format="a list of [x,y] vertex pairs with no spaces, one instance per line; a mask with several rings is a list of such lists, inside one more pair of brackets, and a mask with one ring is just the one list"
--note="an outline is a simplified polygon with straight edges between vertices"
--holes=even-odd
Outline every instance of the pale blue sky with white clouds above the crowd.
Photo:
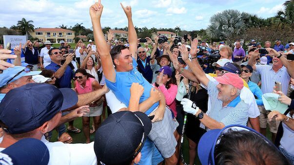
[[[16,25],[18,20],[33,20],[35,28],[67,27],[83,23],[91,28],[89,7],[95,0],[0,0],[0,27]],[[285,0],[102,0],[101,26],[123,28],[127,18],[119,4],[131,5],[137,27],[206,29],[217,12],[236,9],[269,18],[284,9]]]

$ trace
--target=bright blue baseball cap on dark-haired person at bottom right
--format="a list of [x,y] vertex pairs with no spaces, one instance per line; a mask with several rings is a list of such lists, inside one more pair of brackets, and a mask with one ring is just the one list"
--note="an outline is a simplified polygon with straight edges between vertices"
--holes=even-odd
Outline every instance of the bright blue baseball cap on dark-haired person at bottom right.
[[[198,143],[198,157],[202,165],[215,165],[215,148],[216,145],[220,143],[220,137],[225,133],[230,133],[232,131],[251,131],[261,139],[266,141],[266,143],[270,145],[274,145],[271,141],[269,141],[266,137],[256,132],[254,129],[241,126],[241,125],[230,125],[226,126],[222,129],[212,129],[204,133],[204,135],[200,138]],[[229,147],[229,146],[228,146]]]

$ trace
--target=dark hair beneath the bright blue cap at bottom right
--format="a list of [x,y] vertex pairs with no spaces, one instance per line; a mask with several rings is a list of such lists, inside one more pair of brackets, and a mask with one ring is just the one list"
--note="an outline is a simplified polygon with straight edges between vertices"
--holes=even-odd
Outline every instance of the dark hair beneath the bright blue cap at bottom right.
[[215,148],[216,165],[290,165],[278,149],[252,131],[230,131]]

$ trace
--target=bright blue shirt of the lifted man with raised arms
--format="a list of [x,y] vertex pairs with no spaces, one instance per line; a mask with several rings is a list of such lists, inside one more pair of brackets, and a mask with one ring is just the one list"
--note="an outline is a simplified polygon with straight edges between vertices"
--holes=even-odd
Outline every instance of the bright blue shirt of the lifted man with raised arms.
[[[147,100],[150,97],[150,90],[153,86],[142,76],[136,69],[137,62],[133,58],[133,70],[129,72],[116,72],[116,82],[111,82],[105,78],[107,87],[113,91],[119,101],[123,102],[127,107],[129,107],[131,92],[130,88],[132,84],[139,83],[144,87],[144,92],[140,97],[139,103]],[[149,115],[158,106],[158,102],[155,103],[150,109],[148,109],[145,114]]]

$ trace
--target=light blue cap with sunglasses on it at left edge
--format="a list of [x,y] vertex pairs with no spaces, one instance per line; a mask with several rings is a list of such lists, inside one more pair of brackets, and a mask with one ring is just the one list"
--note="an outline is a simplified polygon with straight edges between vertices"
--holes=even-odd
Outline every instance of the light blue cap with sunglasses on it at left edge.
[[29,68],[15,66],[13,68],[8,68],[0,74],[0,87],[3,87],[13,81],[18,80],[22,76],[36,75],[42,71],[31,71]]

